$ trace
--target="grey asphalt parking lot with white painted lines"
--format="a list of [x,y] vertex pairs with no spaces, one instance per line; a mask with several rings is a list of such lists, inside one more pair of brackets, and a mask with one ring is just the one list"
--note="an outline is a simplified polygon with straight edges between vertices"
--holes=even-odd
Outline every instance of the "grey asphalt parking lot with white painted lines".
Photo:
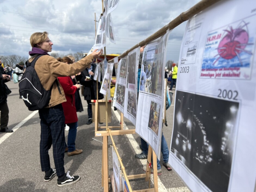
[[[50,182],[44,182],[44,173],[41,171],[39,159],[40,119],[37,112],[27,109],[19,99],[18,84],[12,81],[6,83],[12,93],[8,96],[9,123],[8,128],[13,133],[0,133],[0,191],[103,191],[101,187],[102,137],[95,137],[94,123],[86,125],[88,120],[87,104],[82,98],[83,112],[78,112],[78,132],[76,147],[83,149],[83,153],[76,156],[65,154],[65,170],[72,175],[80,175],[81,180],[65,187],[57,186],[57,177]],[[175,92],[175,89],[174,91]],[[173,95],[174,98],[174,95]],[[171,143],[173,103],[167,110],[167,124],[163,127],[168,147]],[[120,113],[112,107],[111,123],[109,126],[119,125]],[[124,119],[124,128],[134,129],[129,120]],[[104,126],[105,123],[102,125]],[[68,132],[65,131],[66,139]],[[95,140],[94,140],[94,139]],[[142,167],[146,160],[135,159],[140,153],[140,137],[137,134],[113,136],[116,147],[127,175],[144,173]],[[112,141],[108,138],[109,174],[112,168]],[[52,150],[50,149],[51,165],[54,167]],[[162,159],[162,158],[161,158]],[[163,161],[161,160],[161,165]],[[174,171],[162,167],[163,174],[158,176],[159,191],[189,191]],[[146,189],[149,183],[143,178],[130,180],[132,190]],[[150,182],[150,188],[152,188]],[[109,184],[109,191],[112,187]]]

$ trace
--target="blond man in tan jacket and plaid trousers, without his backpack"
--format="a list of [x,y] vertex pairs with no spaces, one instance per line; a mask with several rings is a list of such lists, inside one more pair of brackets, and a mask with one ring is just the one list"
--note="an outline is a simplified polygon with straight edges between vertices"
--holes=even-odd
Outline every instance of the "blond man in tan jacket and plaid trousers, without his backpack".
[[[90,67],[90,63],[94,58],[98,58],[102,54],[102,50],[98,52],[94,50],[90,55],[69,65],[56,60],[48,54],[52,50],[53,43],[48,38],[47,32],[33,33],[30,37],[30,44],[32,51],[29,51],[31,56],[29,62],[32,62],[37,55],[43,55],[36,61],[35,71],[45,90],[50,90],[53,85],[48,106],[39,110],[41,119],[40,161],[41,169],[45,172],[44,181],[50,181],[57,175],[58,186],[73,184],[80,180],[80,176],[69,175],[69,171],[66,173],[64,169],[64,152],[66,148],[64,135],[65,117],[61,103],[66,101],[66,97],[60,83],[55,80],[57,77],[75,75]],[[53,145],[55,169],[51,168],[48,154],[51,145]]]

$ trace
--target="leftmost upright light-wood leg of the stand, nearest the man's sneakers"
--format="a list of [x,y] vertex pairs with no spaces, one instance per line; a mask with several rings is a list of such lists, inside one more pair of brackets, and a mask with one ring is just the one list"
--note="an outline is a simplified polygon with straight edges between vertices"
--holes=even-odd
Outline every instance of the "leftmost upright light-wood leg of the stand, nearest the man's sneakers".
[[104,192],[109,191],[109,173],[108,173],[108,156],[107,156],[107,136],[103,136],[103,180],[104,180]]

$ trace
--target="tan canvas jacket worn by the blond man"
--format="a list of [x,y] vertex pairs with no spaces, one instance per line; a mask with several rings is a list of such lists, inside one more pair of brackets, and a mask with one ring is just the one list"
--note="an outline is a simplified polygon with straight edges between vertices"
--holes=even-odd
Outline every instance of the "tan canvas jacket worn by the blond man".
[[[33,61],[35,56],[29,60],[30,63]],[[83,71],[85,68],[90,67],[90,63],[92,61],[93,61],[93,56],[88,55],[76,63],[67,64],[67,63],[62,63],[58,61],[57,59],[55,59],[54,57],[51,57],[50,55],[43,55],[39,57],[38,60],[36,61],[35,71],[42,85],[44,86],[45,90],[50,90],[51,86],[53,85],[57,77],[75,75]],[[58,82],[58,85],[60,87],[61,94],[59,93],[57,83],[55,82],[53,85],[53,89],[51,91],[51,99],[47,108],[56,106],[66,101],[63,88],[61,87],[59,82]]]

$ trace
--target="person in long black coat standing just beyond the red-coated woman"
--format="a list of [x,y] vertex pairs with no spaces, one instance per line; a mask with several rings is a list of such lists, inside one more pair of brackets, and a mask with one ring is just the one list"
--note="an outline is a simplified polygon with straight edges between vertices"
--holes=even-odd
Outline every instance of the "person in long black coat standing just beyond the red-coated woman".
[[[88,103],[88,122],[87,125],[92,123],[92,99],[97,99],[97,81],[93,80],[94,71],[96,68],[95,63],[91,63],[90,68],[86,68],[81,72],[82,78],[80,83],[84,86],[84,100]],[[103,94],[100,93],[100,82],[98,82],[98,99],[103,99]]]

